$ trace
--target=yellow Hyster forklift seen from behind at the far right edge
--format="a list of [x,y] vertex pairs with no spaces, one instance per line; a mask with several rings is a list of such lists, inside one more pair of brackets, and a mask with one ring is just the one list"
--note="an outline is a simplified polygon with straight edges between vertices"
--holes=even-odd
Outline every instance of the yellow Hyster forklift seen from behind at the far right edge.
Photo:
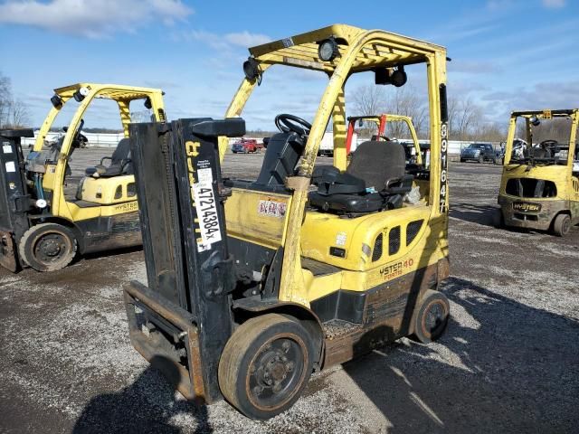
[[[578,123],[579,109],[511,114],[498,225],[552,231],[563,237],[579,224]],[[526,143],[517,140],[514,149],[521,124]]]

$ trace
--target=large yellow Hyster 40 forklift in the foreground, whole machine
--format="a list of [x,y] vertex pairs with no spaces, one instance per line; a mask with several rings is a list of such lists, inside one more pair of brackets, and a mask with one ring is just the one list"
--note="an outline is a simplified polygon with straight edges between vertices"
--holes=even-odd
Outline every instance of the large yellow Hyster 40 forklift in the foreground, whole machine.
[[[268,419],[313,371],[402,336],[429,343],[448,324],[437,290],[449,276],[446,51],[337,24],[250,54],[224,119],[131,125],[148,283],[124,293],[131,343],[187,399],[224,397]],[[404,67],[420,64],[430,168],[408,174],[403,146],[384,140],[348,164],[347,78],[402,86]],[[275,116],[257,179],[223,179],[227,137],[244,134],[243,107],[270,68],[329,77],[316,116]],[[330,118],[334,165],[315,170]]]

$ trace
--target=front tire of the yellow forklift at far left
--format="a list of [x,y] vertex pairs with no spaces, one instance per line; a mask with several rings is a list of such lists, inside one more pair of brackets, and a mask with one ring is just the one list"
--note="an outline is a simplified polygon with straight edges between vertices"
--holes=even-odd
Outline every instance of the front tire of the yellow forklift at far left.
[[[50,237],[52,241],[49,241]],[[43,255],[41,243],[51,242],[57,252],[52,258]],[[56,245],[56,246],[55,246]],[[55,271],[63,269],[74,259],[77,241],[72,231],[62,224],[41,223],[32,226],[24,232],[18,243],[18,254],[23,265],[28,265],[37,271]]]

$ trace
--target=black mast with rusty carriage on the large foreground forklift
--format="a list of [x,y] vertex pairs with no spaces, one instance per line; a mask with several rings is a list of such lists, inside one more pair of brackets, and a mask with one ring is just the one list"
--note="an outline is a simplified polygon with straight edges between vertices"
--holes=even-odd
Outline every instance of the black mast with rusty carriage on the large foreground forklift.
[[243,134],[242,118],[130,126],[148,279],[148,288],[125,287],[131,343],[161,371],[178,372],[177,389],[192,400],[221,396],[235,278],[217,137]]

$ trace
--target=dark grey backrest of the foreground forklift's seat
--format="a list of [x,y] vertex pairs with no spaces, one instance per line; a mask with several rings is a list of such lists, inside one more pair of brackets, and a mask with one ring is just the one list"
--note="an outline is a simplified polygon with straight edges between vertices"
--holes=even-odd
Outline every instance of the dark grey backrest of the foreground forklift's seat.
[[384,190],[386,184],[404,175],[406,157],[398,142],[367,141],[356,148],[346,173],[365,181],[366,188]]

